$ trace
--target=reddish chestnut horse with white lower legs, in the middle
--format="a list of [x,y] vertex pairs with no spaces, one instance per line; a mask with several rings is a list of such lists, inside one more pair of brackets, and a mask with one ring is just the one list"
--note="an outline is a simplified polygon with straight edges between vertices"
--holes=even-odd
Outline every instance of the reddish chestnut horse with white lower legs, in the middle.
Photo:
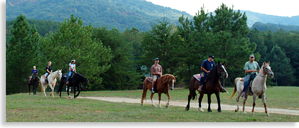
[[[169,95],[169,89],[173,90],[173,85],[175,82],[175,78],[177,76],[173,76],[171,74],[165,74],[163,76],[161,76],[157,81],[156,81],[156,85],[157,85],[157,92],[159,95],[159,107],[161,108],[161,94],[164,93],[167,95],[168,97],[168,102],[166,104],[166,108],[169,107],[169,101],[170,101],[170,95]],[[148,89],[151,92],[151,82],[148,80],[149,77],[147,77],[144,82],[143,82],[143,93],[142,93],[142,98],[141,98],[141,106],[143,106],[143,101],[147,99],[147,91]],[[156,92],[156,91],[155,91]],[[156,105],[153,103],[153,93],[150,95],[150,100],[151,100],[151,106],[152,107],[156,107]]]

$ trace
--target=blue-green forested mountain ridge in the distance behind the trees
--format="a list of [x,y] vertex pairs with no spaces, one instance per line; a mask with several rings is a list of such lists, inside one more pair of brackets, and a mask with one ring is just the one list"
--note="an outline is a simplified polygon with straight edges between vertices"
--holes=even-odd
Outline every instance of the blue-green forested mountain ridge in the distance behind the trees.
[[[198,10],[200,7],[198,7]],[[237,11],[237,10],[235,10]],[[299,16],[279,17],[246,12],[248,27],[259,21],[284,25],[299,25]],[[171,20],[180,25],[178,18],[184,15],[192,19],[193,16],[185,11],[178,11],[163,7],[145,0],[6,0],[6,20],[11,21],[20,14],[27,19],[64,21],[71,14],[77,16],[84,25],[107,26],[124,31],[126,27],[136,27],[140,31],[151,29],[151,24],[162,20]]]

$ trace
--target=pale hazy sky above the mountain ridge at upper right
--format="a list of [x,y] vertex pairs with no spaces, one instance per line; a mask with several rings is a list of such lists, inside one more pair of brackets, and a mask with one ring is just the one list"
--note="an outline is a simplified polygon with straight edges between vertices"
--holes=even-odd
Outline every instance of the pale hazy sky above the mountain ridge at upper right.
[[205,6],[205,12],[214,12],[222,4],[229,8],[234,4],[234,10],[248,10],[252,12],[292,17],[299,15],[299,0],[146,0],[153,4],[170,7],[195,15],[200,7]]

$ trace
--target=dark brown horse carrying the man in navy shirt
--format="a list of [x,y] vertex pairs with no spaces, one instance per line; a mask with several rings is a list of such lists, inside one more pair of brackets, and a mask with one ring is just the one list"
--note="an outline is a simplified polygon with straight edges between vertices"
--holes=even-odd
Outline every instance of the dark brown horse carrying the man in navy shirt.
[[[227,79],[228,78],[228,74],[225,70],[225,62],[223,64],[221,64],[218,61],[218,64],[215,65],[211,72],[206,76],[206,80],[203,83],[203,90],[199,91],[200,96],[198,98],[198,103],[199,103],[199,108],[198,110],[203,112],[204,110],[201,108],[201,101],[202,98],[204,96],[204,94],[208,95],[208,103],[209,103],[209,107],[208,107],[208,112],[212,112],[211,110],[211,95],[215,93],[216,97],[217,97],[217,102],[218,102],[218,112],[222,112],[221,111],[221,107],[220,107],[220,97],[219,97],[219,93],[220,93],[220,89],[221,89],[221,85],[220,85],[220,76],[222,76],[223,78]],[[190,80],[190,85],[189,85],[189,95],[188,95],[188,105],[185,108],[185,110],[189,110],[190,108],[190,100],[193,98],[193,100],[195,99],[196,93],[195,91],[199,88],[200,82],[193,76]]]

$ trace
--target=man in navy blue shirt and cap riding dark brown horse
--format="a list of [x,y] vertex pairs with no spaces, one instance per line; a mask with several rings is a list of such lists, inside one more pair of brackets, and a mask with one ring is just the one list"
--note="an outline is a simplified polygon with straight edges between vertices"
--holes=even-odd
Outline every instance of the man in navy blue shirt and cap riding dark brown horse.
[[204,60],[201,64],[201,73],[200,73],[200,86],[198,91],[202,91],[202,84],[206,79],[206,76],[211,72],[212,68],[215,66],[214,60],[215,57],[210,55],[207,60]]

